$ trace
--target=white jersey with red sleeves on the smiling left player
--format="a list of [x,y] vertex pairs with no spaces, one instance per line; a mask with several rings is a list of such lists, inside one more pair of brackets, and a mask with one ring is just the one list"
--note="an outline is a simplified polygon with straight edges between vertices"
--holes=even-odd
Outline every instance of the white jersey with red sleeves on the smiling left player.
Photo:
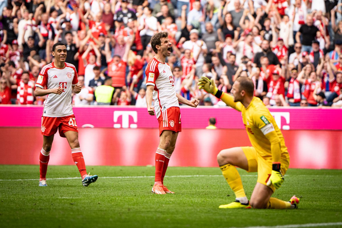
[[44,89],[62,88],[62,94],[51,93],[44,102],[43,116],[63,117],[73,115],[71,105],[72,85],[78,82],[76,68],[73,64],[64,63],[60,69],[54,66],[54,62],[44,66],[38,76],[36,86]]

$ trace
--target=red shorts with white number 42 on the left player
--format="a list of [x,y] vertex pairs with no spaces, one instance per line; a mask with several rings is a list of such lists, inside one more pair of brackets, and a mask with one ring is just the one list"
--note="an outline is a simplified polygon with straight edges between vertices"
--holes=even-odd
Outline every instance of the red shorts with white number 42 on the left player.
[[75,131],[78,132],[75,115],[63,117],[42,117],[41,133],[45,136],[56,134],[57,129],[61,137],[65,138],[64,132]]

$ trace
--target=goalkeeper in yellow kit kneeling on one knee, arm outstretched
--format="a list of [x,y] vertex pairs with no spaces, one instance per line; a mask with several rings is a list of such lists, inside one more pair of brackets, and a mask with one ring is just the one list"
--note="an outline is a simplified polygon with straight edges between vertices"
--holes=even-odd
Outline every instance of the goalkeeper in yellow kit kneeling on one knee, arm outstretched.
[[[284,137],[273,116],[258,97],[253,96],[254,83],[248,77],[239,77],[233,84],[232,95],[218,90],[214,80],[199,79],[200,89],[220,98],[224,103],[242,112],[251,147],[234,147],[220,151],[217,161],[223,176],[235,193],[236,200],[219,208],[297,208],[299,198],[290,201],[271,197],[284,182],[289,167],[289,153]],[[247,172],[258,172],[258,180],[248,201],[241,177],[235,166]]]

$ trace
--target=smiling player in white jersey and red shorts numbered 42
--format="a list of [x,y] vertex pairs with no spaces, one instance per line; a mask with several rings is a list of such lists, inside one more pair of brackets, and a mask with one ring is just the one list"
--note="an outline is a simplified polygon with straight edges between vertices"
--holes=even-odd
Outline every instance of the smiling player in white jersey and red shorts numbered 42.
[[[97,180],[97,175],[87,175],[86,165],[80,144],[78,142],[78,128],[71,105],[71,93],[81,92],[81,85],[77,84],[77,72],[74,65],[66,63],[66,46],[55,43],[52,48],[55,61],[44,66],[36,82],[36,96],[48,95],[43,108],[41,134],[43,147],[39,155],[39,186],[47,186],[46,172],[50,158],[53,137],[57,130],[61,137],[65,137],[71,148],[71,155],[82,177],[83,186]],[[46,89],[45,89],[46,88]]]

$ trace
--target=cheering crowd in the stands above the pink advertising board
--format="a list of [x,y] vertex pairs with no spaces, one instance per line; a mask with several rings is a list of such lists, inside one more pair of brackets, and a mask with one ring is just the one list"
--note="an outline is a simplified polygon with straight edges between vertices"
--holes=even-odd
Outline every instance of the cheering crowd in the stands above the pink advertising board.
[[[35,97],[52,46],[78,69],[79,105],[146,107],[149,43],[168,31],[176,92],[226,106],[199,90],[214,78],[229,92],[250,77],[266,106],[342,107],[341,0],[0,0],[0,103]],[[57,77],[57,76],[56,76]]]

